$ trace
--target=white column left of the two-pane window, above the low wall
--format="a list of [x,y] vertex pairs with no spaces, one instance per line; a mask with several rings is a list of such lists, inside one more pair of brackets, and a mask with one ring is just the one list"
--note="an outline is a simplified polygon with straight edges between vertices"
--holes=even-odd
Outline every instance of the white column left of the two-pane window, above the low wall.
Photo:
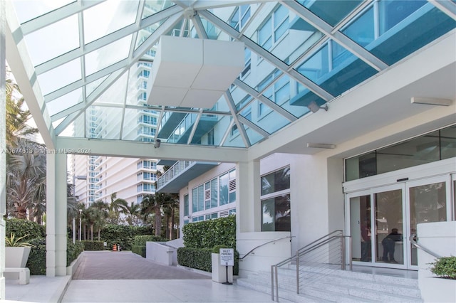
[[237,233],[261,231],[259,161],[236,165]]

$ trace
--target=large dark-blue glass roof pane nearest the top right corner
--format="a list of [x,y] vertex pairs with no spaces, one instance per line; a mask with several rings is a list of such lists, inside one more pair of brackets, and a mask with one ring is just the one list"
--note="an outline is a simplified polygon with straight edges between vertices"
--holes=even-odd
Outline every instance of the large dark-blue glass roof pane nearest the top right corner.
[[383,33],[380,38],[366,46],[366,49],[392,65],[455,27],[455,20],[432,4],[425,4]]

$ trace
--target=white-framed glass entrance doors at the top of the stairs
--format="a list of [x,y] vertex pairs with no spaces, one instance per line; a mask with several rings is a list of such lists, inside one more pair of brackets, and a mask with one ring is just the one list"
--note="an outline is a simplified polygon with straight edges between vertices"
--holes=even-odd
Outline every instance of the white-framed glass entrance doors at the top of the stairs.
[[419,223],[453,217],[453,185],[455,176],[446,175],[348,193],[353,262],[418,270],[417,248],[408,239]]

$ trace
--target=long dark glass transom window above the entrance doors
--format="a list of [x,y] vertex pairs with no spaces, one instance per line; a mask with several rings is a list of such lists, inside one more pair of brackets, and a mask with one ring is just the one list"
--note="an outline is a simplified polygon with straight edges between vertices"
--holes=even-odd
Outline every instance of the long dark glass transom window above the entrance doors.
[[346,159],[346,181],[456,156],[456,125]]

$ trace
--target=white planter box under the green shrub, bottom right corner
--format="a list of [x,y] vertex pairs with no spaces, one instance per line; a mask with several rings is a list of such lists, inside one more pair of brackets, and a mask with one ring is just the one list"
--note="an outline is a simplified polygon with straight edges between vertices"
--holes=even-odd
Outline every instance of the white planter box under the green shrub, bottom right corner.
[[456,280],[424,277],[420,285],[424,302],[456,302]]

